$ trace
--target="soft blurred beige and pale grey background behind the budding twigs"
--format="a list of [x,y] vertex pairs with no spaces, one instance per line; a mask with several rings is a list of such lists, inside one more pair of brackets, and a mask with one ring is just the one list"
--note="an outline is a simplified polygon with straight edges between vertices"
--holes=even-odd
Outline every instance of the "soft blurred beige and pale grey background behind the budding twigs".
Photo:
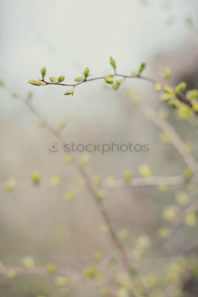
[[[147,61],[145,75],[162,81],[164,68],[170,67],[173,85],[185,81],[187,91],[198,89],[198,3],[2,0],[0,5],[5,83],[0,90],[0,297],[142,296],[131,289],[108,226],[45,121],[61,129],[68,143],[149,144],[149,152],[76,152],[103,190],[103,181],[125,182],[131,172],[139,177],[144,164],[152,176],[180,176],[187,168],[137,102],[165,118],[195,160],[198,118],[178,115],[145,81],[126,80],[117,91],[93,81],[78,86],[73,97],[63,95],[66,87],[27,82],[44,66],[47,76],[65,75],[65,83],[86,67],[92,77],[109,75],[112,55],[122,74]],[[47,120],[18,100],[28,96]],[[55,143],[59,151],[53,154],[48,149]],[[191,180],[100,192],[133,263],[132,274],[138,271],[149,296],[198,295],[197,193]]]

